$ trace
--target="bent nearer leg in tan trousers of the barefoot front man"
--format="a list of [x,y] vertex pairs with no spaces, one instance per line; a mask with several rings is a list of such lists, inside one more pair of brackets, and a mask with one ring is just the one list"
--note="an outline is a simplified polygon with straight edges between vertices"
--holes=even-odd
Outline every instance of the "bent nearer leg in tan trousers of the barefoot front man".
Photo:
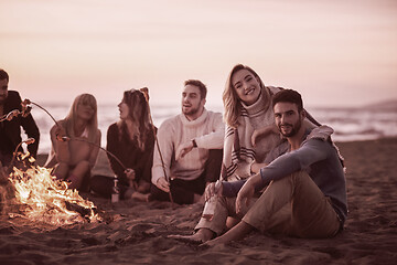
[[305,172],[273,181],[243,220],[207,245],[240,240],[253,229],[299,237],[331,237],[340,221],[329,198]]

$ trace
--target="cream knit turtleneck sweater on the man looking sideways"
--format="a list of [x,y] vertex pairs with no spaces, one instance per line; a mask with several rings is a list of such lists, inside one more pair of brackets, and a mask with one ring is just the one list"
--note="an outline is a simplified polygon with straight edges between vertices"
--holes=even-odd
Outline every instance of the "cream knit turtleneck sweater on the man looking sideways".
[[[189,120],[183,114],[169,118],[158,130],[158,141],[164,162],[167,178],[194,180],[204,171],[208,158],[208,149],[222,149],[225,125],[221,113],[207,112],[195,120]],[[178,147],[195,139],[197,148],[175,161]],[[164,177],[158,146],[154,146],[152,183]]]

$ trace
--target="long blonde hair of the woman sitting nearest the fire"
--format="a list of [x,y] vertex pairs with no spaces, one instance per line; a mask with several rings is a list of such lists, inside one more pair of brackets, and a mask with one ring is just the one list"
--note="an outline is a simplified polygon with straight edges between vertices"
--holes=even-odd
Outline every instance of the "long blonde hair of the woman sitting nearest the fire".
[[66,134],[69,137],[75,137],[74,125],[75,121],[77,120],[77,108],[78,105],[81,104],[89,105],[94,109],[93,117],[87,123],[87,129],[88,129],[88,140],[95,142],[98,131],[98,117],[97,117],[97,102],[92,94],[82,94],[74,99],[69,113],[65,118]]

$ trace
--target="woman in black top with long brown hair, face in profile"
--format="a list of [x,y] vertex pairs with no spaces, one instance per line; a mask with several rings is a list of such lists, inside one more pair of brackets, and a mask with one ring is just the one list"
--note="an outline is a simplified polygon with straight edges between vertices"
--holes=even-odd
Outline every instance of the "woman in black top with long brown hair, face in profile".
[[[124,93],[118,107],[120,119],[108,128],[106,149],[115,155],[127,170],[114,157],[108,156],[110,167],[117,176],[121,198],[147,200],[143,194],[150,191],[154,147],[149,106],[143,93],[131,89]],[[94,176],[92,189],[97,194],[110,198],[112,181],[104,176]]]

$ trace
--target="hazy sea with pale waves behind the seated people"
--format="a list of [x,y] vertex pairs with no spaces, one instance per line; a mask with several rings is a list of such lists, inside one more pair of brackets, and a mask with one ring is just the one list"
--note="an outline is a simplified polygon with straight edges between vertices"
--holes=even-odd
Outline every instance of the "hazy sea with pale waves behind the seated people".
[[[41,104],[56,119],[63,119],[69,109],[67,104]],[[223,112],[222,106],[207,106],[207,109]],[[397,105],[377,105],[366,107],[307,107],[308,112],[321,124],[331,126],[335,141],[369,140],[397,136]],[[180,106],[153,105],[151,114],[157,127],[180,113]],[[50,129],[54,125],[51,117],[33,105],[32,115],[40,128],[41,139],[39,153],[51,150]],[[118,120],[117,105],[98,106],[98,124],[101,131],[101,146],[106,147],[106,132],[109,125]]]

